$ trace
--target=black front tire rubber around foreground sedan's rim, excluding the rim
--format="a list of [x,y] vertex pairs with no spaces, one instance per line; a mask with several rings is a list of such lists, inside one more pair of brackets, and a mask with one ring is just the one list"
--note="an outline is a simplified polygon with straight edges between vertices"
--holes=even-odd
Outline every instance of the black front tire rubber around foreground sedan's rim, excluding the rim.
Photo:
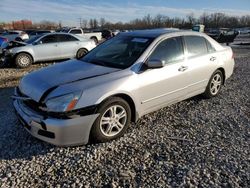
[[[112,136],[112,137],[107,137],[105,136],[100,129],[100,120],[101,117],[103,115],[103,113],[110,107],[113,105],[120,105],[122,106],[126,112],[127,112],[127,121],[125,126],[123,127],[123,129],[121,130],[121,132],[119,132],[117,135]],[[111,140],[114,140],[116,138],[121,137],[127,130],[130,122],[131,122],[131,109],[129,104],[123,100],[120,97],[112,97],[109,98],[108,100],[104,101],[100,107],[97,110],[97,113],[99,113],[100,115],[98,116],[98,118],[95,120],[91,132],[90,132],[90,141],[94,142],[94,143],[100,143],[100,142],[108,142]]]

